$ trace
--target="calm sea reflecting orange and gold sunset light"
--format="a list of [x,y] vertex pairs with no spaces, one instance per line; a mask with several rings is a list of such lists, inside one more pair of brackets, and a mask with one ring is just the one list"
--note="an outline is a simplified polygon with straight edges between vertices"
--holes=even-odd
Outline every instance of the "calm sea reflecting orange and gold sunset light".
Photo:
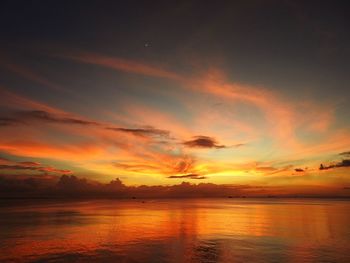
[[350,201],[2,201],[0,262],[350,262]]

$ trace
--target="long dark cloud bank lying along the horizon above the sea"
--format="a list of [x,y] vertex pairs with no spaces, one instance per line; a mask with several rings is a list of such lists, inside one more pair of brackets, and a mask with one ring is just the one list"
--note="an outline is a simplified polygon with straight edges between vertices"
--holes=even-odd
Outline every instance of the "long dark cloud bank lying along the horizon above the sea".
[[109,183],[78,178],[0,176],[0,198],[96,199],[96,198],[227,198],[227,197],[350,197],[347,188],[252,186],[239,184],[191,184],[126,186],[119,178]]

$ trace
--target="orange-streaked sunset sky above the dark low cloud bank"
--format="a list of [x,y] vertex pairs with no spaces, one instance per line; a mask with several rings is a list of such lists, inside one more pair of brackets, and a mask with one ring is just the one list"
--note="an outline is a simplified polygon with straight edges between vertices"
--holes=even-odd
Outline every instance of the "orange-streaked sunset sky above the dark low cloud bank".
[[3,1],[0,177],[348,196],[348,11]]

